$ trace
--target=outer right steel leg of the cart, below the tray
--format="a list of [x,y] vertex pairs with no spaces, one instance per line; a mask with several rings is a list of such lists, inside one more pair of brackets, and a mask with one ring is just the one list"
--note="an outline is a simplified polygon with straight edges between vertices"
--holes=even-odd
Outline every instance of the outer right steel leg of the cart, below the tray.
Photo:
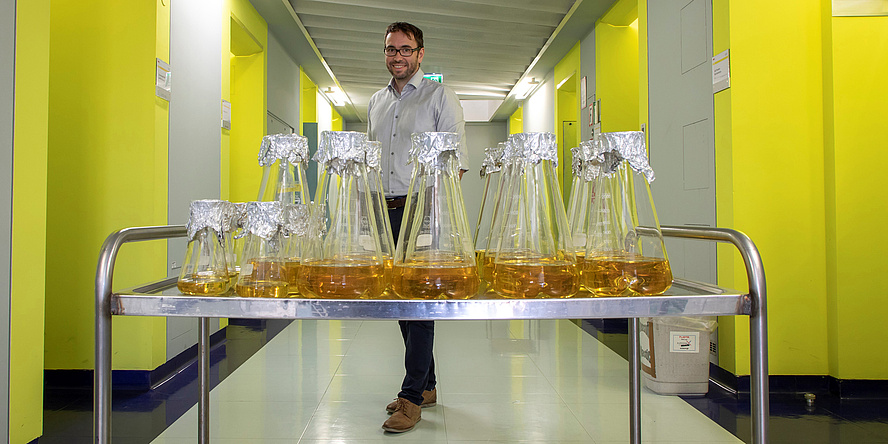
[[764,307],[759,307],[749,317],[750,391],[752,392],[752,442],[768,442],[768,323]]

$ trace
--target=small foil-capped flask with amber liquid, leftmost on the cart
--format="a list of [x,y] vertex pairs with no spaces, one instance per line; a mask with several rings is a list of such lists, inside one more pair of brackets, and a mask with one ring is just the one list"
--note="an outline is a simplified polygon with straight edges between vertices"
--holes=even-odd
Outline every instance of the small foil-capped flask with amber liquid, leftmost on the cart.
[[222,239],[223,200],[191,202],[188,247],[177,287],[184,294],[219,296],[229,289],[228,265]]

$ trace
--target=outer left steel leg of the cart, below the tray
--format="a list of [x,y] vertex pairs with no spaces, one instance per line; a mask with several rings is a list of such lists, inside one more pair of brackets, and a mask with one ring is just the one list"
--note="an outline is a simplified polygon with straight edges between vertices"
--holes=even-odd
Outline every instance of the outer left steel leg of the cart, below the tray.
[[[110,295],[96,310],[96,368],[93,374],[93,434],[98,444],[111,442],[111,308]],[[104,304],[108,306],[105,307]]]

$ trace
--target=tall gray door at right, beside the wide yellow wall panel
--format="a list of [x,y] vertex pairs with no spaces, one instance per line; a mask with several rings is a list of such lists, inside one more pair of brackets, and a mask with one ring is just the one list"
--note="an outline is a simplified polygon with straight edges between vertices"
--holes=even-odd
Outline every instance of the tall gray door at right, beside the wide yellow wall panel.
[[[648,2],[651,185],[662,225],[715,226],[711,0]],[[715,245],[667,240],[676,277],[715,283]]]

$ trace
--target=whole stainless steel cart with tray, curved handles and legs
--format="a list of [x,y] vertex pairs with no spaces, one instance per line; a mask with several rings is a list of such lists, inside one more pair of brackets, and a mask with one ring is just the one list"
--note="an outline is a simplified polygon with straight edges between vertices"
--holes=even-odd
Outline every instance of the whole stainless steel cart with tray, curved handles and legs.
[[469,300],[320,300],[183,296],[174,278],[114,293],[117,253],[128,242],[184,237],[181,225],[127,228],[105,241],[96,271],[95,442],[111,442],[111,317],[199,318],[200,398],[198,442],[209,439],[209,319],[588,319],[629,318],[630,442],[641,443],[641,378],[638,318],[656,316],[749,316],[752,441],[768,442],[768,341],[765,274],[755,244],[743,233],[722,228],[662,227],[669,237],[734,244],[746,265],[749,293],[676,279],[663,296]]

